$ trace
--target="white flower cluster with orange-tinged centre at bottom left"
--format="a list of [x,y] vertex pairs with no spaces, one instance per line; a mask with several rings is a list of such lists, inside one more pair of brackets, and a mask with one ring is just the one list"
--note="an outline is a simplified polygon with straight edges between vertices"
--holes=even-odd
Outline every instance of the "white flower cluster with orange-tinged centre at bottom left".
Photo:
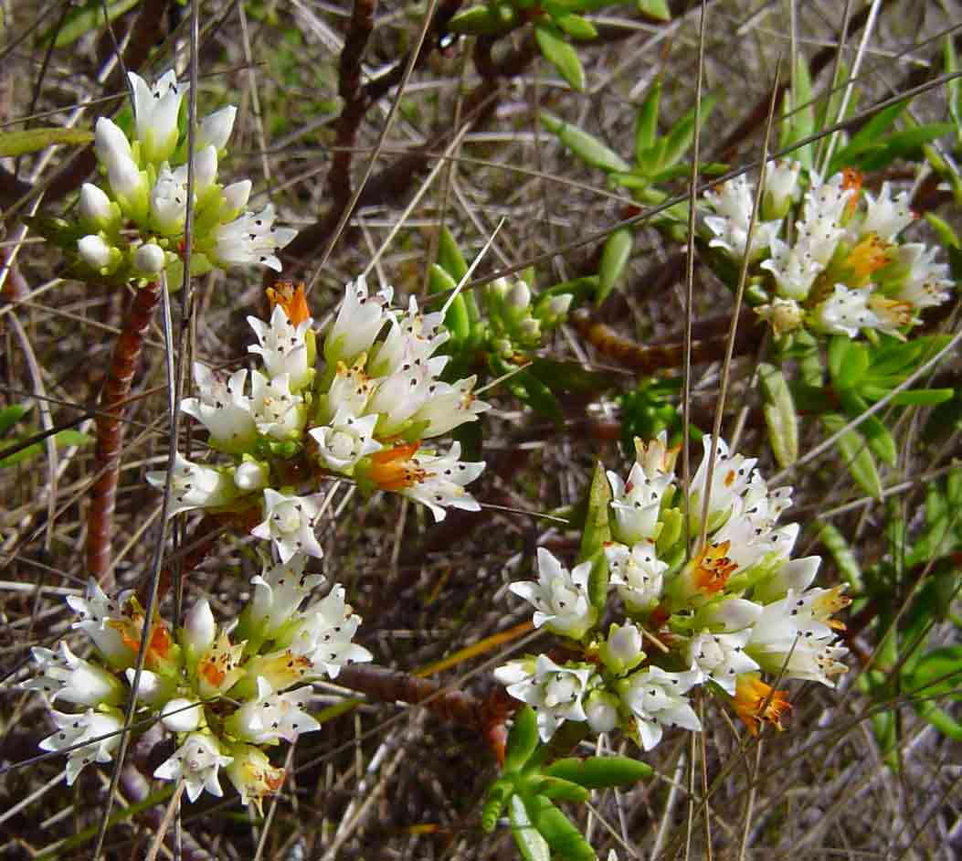
[[[154,776],[183,778],[191,801],[204,790],[223,794],[223,766],[244,803],[260,806],[284,779],[262,748],[320,728],[306,711],[309,683],[371,659],[351,642],[361,618],[344,602],[342,586],[300,609],[324,580],[304,572],[306,561],[303,555],[279,565],[265,561],[233,631],[218,630],[204,598],[176,631],[164,620],[150,624],[135,721],[154,718],[174,735],[177,749]],[[40,743],[67,754],[70,785],[89,763],[110,762],[120,744],[145,620],[136,598],[113,600],[93,580],[85,598],[67,600],[80,616],[73,627],[88,635],[96,658],[80,658],[64,642],[57,650],[35,647],[39,674],[20,687],[77,709],[51,708],[57,731]]]

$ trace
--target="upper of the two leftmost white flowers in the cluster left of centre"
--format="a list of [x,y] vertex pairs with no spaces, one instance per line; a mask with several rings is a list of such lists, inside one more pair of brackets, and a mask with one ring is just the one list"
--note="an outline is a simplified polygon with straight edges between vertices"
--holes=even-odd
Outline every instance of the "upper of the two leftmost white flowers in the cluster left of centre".
[[194,362],[193,378],[199,396],[181,401],[181,410],[207,428],[209,443],[221,451],[236,452],[257,442],[250,398],[243,392],[246,369],[235,371],[225,384],[209,367]]

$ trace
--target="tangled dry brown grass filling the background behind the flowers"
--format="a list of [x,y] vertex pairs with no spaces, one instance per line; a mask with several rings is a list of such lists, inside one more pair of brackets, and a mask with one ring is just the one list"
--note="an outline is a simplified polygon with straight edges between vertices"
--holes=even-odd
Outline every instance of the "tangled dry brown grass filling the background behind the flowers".
[[[596,238],[624,217],[630,201],[545,133],[541,111],[627,154],[636,107],[655,76],[666,84],[668,119],[696,102],[703,50],[703,88],[720,95],[700,140],[703,158],[747,165],[761,153],[779,58],[802,56],[816,81],[827,86],[837,58],[850,67],[859,56],[860,104],[869,107],[937,78],[942,38],[948,32],[956,44],[960,40],[951,28],[958,27],[962,10],[950,0],[709,2],[703,36],[697,4],[671,5],[670,24],[653,23],[633,7],[597,13],[600,37],[580,50],[588,91],[575,93],[539,60],[524,30],[494,45],[443,36],[444,16],[461,6],[458,0],[200,3],[198,103],[202,109],[227,101],[240,106],[232,157],[221,169],[252,177],[255,193],[272,200],[301,230],[287,249],[285,275],[309,282],[315,317],[323,319],[342,285],[368,267],[374,280],[402,294],[422,291],[442,224],[470,258],[504,219],[479,280],[528,265],[536,266],[541,287],[594,273]],[[417,57],[426,8],[435,10],[437,23]],[[7,0],[0,48],[5,124],[43,114],[44,125],[89,125],[92,117],[112,112],[122,95],[117,46],[128,66],[156,73],[175,63],[188,75],[190,10],[143,0],[114,19],[113,32],[100,27],[46,52],[69,9],[65,0],[42,7]],[[366,10],[368,38],[363,21],[358,23]],[[942,118],[945,89],[924,91],[912,111]],[[114,288],[64,278],[59,254],[21,220],[35,210],[62,212],[68,191],[90,170],[85,159],[82,152],[60,148],[4,165],[0,391],[4,405],[36,404],[38,428],[79,418],[77,427],[89,430],[130,301]],[[896,167],[884,178],[909,187],[914,175]],[[43,193],[24,202],[31,190]],[[675,190],[684,191],[683,179]],[[338,231],[355,194],[357,207]],[[918,183],[915,201],[958,225],[958,209],[933,184]],[[190,329],[189,355],[174,357],[179,367],[189,367],[190,359],[214,367],[241,364],[249,340],[245,317],[266,310],[263,287],[253,271],[198,279],[189,317],[175,294],[173,330]],[[697,262],[694,289],[695,337],[724,333],[730,293]],[[597,315],[643,346],[683,342],[684,291],[684,245],[643,229],[620,291]],[[953,332],[957,295],[948,313],[926,325]],[[167,457],[164,343],[158,316],[124,417],[108,578],[114,588],[142,588],[160,534],[160,499],[143,475]],[[754,389],[757,350],[756,341],[737,351],[724,426],[730,434],[737,424],[742,448],[763,452],[768,449]],[[486,503],[481,513],[454,513],[435,525],[399,497],[362,500],[346,489],[332,506],[321,536],[323,570],[347,588],[365,620],[360,642],[379,665],[417,671],[529,618],[528,609],[507,595],[506,584],[530,570],[537,545],[573,555],[577,541],[563,523],[538,515],[570,512],[584,497],[598,459],[610,467],[625,463],[614,397],[635,385],[636,372],[599,354],[570,327],[558,333],[549,352],[603,370],[611,388],[592,398],[571,396],[563,404],[566,420],[557,426],[507,393],[491,393],[496,408],[485,428],[489,469],[477,493]],[[718,400],[722,357],[720,349],[712,361],[698,364],[692,379],[692,415],[703,427]],[[677,375],[680,367],[660,371]],[[939,374],[945,385],[957,386],[957,362]],[[899,469],[884,475],[893,489],[886,501],[866,498],[838,455],[827,452],[792,476],[796,508],[790,518],[807,524],[834,512],[831,521],[863,565],[884,557],[880,524],[887,512],[894,507],[911,522],[926,481],[959,454],[957,434],[938,450],[919,446],[924,418],[895,430],[903,455]],[[819,439],[817,429],[809,429],[801,450]],[[66,633],[63,596],[85,583],[91,469],[92,448],[84,445],[0,469],[4,857],[89,857],[110,789],[109,767],[85,772],[68,789],[62,762],[29,762],[50,731],[48,719],[39,698],[15,686],[29,646],[50,645]],[[174,558],[208,528],[199,518],[185,520],[176,529]],[[801,544],[820,552],[810,531]],[[230,618],[258,565],[248,537],[218,535],[212,552],[186,575],[185,595],[207,596],[215,611]],[[838,573],[827,565],[826,576]],[[893,608],[908,599],[908,590],[893,594]],[[958,642],[951,620],[939,625],[940,643]],[[494,690],[491,667],[518,645],[515,640],[484,651],[432,678],[483,699]],[[755,740],[712,701],[699,703],[704,735],[671,734],[648,758],[654,779],[595,798],[583,824],[599,856],[609,848],[621,858],[635,857],[634,850],[637,857],[666,859],[948,861],[962,854],[962,748],[919,718],[907,698],[878,703],[867,696],[857,680],[877,642],[861,636],[852,645],[852,668],[838,691],[811,684],[794,689],[786,732]],[[320,686],[316,710],[350,693],[339,685]],[[951,708],[949,699],[942,705]],[[873,734],[876,709],[898,712],[898,769],[891,760],[886,764]],[[496,767],[476,729],[430,708],[373,696],[328,717],[321,732],[292,749],[290,778],[269,805],[265,823],[251,823],[236,797],[220,803],[203,797],[165,819],[174,813],[169,793],[146,775],[170,751],[151,732],[143,734],[119,775],[104,854],[140,857],[153,846],[165,857],[194,859],[517,856],[507,828],[491,836],[479,828],[480,801]],[[163,839],[155,846],[158,835]]]

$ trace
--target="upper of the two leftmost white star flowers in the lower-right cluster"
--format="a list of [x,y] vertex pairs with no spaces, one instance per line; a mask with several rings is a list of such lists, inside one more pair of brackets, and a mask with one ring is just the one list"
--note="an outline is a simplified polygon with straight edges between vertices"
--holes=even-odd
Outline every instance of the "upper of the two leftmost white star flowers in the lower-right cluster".
[[512,583],[508,588],[535,607],[536,628],[580,640],[597,619],[588,599],[592,563],[583,562],[570,572],[550,551],[538,548],[538,582]]

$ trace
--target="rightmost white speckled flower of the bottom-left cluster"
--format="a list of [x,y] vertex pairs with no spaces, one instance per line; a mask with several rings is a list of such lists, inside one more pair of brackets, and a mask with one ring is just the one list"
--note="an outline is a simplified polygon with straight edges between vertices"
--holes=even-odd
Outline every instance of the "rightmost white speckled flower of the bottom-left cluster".
[[344,601],[344,595],[343,586],[335,586],[308,607],[279,642],[295,654],[308,656],[315,670],[330,678],[337,678],[347,664],[367,663],[373,657],[367,648],[351,642],[362,619]]

